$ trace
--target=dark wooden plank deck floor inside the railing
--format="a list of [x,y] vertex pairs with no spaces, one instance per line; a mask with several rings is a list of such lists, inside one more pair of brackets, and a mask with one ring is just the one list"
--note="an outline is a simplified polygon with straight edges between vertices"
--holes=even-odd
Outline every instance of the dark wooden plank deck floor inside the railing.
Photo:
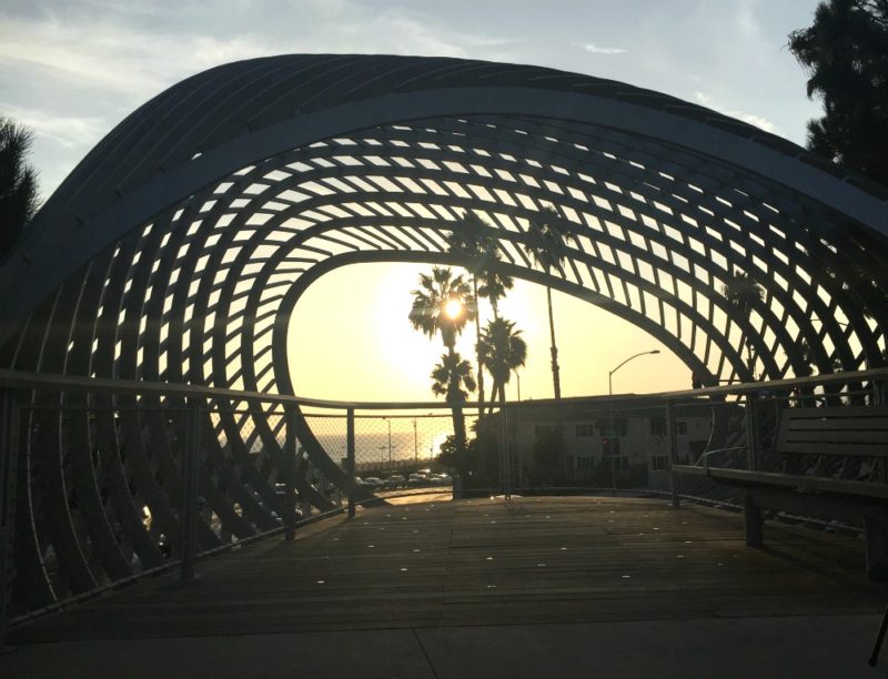
[[331,519],[18,628],[13,643],[881,612],[862,541],[659,499],[400,505]]

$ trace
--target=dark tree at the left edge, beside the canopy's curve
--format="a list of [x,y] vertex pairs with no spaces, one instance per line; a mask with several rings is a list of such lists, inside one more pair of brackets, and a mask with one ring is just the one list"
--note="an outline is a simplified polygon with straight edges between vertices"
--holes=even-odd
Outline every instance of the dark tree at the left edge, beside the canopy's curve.
[[28,128],[0,116],[0,260],[37,211],[37,172],[24,162],[32,142]]

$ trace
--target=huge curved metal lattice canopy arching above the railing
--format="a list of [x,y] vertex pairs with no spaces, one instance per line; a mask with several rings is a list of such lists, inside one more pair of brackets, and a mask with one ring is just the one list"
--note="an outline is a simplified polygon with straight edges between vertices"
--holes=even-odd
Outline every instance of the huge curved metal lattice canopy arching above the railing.
[[[875,366],[885,197],[783,139],[619,82],[443,58],[253,59],[149,101],[47,201],[0,270],[3,364],[290,393],[300,294],[347,264],[458,263],[446,237],[467,211],[505,272],[632,322],[704,383],[751,377],[747,338],[764,377],[808,358]],[[567,233],[548,273],[522,247],[543,206]],[[765,291],[748,315],[722,294],[735,271]],[[276,445],[261,418],[249,435],[234,416],[214,426]]]

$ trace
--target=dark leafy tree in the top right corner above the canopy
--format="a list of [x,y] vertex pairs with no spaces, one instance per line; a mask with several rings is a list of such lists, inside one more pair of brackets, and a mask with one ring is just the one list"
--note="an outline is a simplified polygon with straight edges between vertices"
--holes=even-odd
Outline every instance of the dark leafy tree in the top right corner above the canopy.
[[888,1],[820,2],[789,50],[809,74],[808,97],[824,103],[808,149],[888,185]]

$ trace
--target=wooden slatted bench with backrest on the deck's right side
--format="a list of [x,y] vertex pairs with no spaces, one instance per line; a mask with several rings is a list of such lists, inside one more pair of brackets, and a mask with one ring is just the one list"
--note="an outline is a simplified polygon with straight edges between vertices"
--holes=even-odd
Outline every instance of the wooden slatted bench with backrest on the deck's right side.
[[674,465],[740,486],[746,541],[764,544],[761,507],[862,523],[867,570],[888,579],[888,406],[786,408],[774,455],[783,472]]

